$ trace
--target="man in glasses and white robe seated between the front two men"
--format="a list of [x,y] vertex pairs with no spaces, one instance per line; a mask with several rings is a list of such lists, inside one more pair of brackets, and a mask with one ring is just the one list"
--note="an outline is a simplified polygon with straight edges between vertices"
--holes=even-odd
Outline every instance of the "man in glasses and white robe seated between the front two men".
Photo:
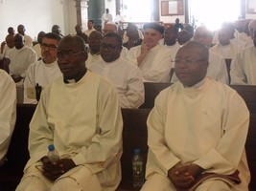
[[142,74],[137,66],[123,59],[122,38],[119,34],[105,34],[101,55],[103,60],[92,63],[89,69],[109,79],[118,91],[122,108],[138,108],[144,103],[144,84]]

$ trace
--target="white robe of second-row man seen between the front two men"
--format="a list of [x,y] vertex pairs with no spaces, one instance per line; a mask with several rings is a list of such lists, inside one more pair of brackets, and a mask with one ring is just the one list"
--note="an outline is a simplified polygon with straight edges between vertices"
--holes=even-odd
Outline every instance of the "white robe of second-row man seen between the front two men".
[[144,103],[144,84],[137,66],[119,57],[113,62],[95,62],[89,69],[105,76],[116,86],[122,108],[138,108]]

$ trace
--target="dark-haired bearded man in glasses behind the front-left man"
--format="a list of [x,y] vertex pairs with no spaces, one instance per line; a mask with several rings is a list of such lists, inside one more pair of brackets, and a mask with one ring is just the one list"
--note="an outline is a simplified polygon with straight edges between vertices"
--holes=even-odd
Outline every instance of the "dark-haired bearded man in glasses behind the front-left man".
[[46,33],[42,38],[42,59],[32,64],[24,80],[24,103],[37,103],[35,86],[44,88],[61,75],[57,63],[57,48],[60,36],[54,32]]

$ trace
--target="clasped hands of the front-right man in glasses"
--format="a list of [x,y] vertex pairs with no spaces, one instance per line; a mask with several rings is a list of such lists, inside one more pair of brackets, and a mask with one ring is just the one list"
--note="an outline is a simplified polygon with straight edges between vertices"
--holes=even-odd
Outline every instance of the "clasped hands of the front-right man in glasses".
[[176,187],[188,188],[203,171],[203,168],[194,163],[183,165],[178,163],[168,171],[168,177]]

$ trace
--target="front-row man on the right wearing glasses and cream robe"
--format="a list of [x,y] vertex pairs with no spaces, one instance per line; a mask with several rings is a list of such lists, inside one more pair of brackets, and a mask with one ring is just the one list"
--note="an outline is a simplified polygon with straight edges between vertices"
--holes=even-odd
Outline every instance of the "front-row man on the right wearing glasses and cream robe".
[[206,76],[208,59],[196,41],[176,53],[179,81],[156,97],[148,117],[142,191],[248,190],[249,112],[236,91]]

